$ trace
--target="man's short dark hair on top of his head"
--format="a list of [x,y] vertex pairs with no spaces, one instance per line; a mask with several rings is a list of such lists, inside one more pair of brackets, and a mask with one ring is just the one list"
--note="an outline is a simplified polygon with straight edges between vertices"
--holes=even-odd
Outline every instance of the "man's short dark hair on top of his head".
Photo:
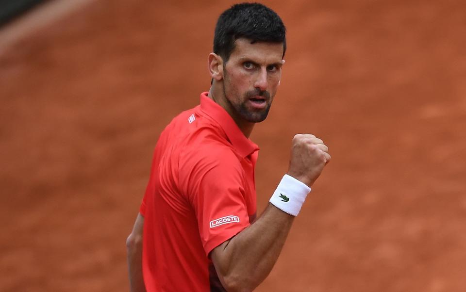
[[253,42],[283,43],[286,51],[286,28],[272,9],[260,3],[235,4],[225,10],[217,20],[214,34],[214,53],[226,63],[238,38]]

